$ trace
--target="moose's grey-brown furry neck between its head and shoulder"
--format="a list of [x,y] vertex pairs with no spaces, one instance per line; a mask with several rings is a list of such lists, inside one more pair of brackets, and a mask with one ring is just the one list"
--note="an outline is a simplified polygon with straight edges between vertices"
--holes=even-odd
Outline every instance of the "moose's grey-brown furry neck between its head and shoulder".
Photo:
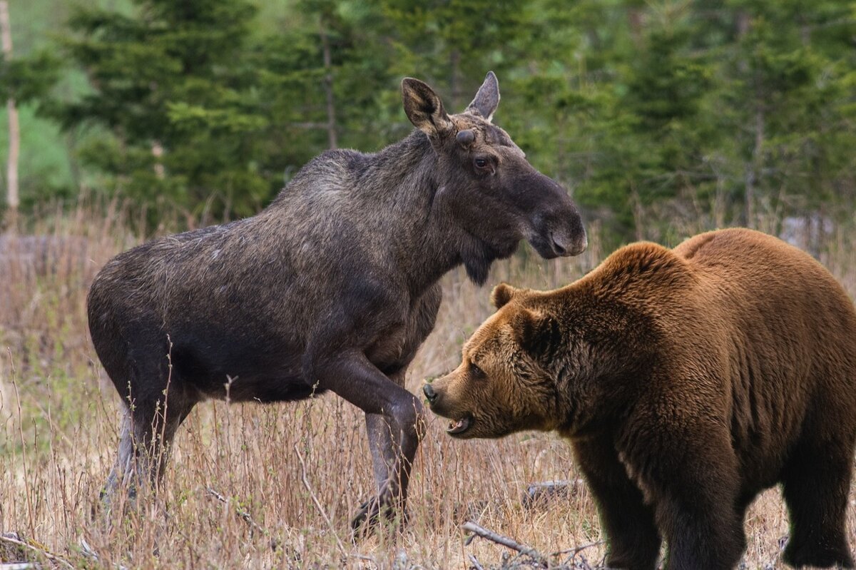
[[414,131],[373,155],[372,166],[360,176],[366,197],[383,209],[391,258],[414,296],[461,263],[474,281],[484,282],[494,258],[455,223],[438,180],[440,168],[431,142]]

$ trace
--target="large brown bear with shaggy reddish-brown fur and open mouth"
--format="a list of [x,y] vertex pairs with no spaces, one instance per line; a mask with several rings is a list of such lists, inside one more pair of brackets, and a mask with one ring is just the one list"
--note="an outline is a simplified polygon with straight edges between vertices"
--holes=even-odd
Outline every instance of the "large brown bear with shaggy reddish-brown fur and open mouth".
[[606,564],[733,568],[782,484],[794,567],[853,567],[856,312],[823,266],[748,229],[636,243],[567,287],[498,285],[463,362],[425,384],[455,437],[557,430],[597,501]]

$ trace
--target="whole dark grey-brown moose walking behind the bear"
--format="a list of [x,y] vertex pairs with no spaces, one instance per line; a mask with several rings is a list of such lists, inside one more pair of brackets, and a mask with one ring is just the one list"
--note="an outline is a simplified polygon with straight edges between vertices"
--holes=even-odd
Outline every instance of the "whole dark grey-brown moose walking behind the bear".
[[299,401],[331,391],[366,413],[377,494],[354,531],[403,515],[424,428],[407,365],[434,327],[438,280],[479,285],[526,239],[543,258],[586,248],[568,193],[492,124],[499,85],[448,115],[406,78],[416,127],[373,154],[325,151],[256,216],[168,235],[111,259],[89,329],[125,414],[103,490],[157,489],[169,445],[208,398]]

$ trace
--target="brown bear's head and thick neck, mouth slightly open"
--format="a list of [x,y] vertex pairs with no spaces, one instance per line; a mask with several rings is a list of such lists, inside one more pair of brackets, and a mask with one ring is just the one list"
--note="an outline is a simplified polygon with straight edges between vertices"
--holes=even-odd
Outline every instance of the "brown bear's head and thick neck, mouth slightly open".
[[629,406],[658,365],[658,335],[611,288],[597,275],[555,291],[497,285],[496,313],[464,344],[461,365],[423,387],[431,411],[452,420],[449,435],[585,436]]

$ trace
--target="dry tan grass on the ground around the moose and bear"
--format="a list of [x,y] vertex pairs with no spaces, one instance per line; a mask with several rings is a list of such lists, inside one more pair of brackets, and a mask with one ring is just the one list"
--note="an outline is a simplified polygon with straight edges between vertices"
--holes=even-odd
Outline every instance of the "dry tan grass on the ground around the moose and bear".
[[[465,520],[547,555],[603,539],[584,485],[538,508],[521,505],[532,482],[580,477],[570,449],[556,436],[458,442],[443,433],[443,420],[431,418],[413,471],[407,530],[397,538],[382,534],[352,543],[348,520],[372,491],[371,466],[361,413],[335,395],[290,405],[199,405],[177,436],[158,500],[144,501],[148,507],[109,530],[93,523],[91,509],[116,451],[119,398],[88,341],[86,288],[98,267],[134,237],[116,210],[107,217],[92,212],[80,207],[71,215],[45,216],[33,229],[51,236],[51,259],[60,263],[36,270],[27,265],[33,258],[24,264],[30,270],[14,259],[0,265],[0,531],[16,531],[31,546],[0,541],[0,561],[46,567],[66,567],[68,561],[72,567],[465,568],[473,555],[484,567],[502,564],[506,549],[479,538],[465,543]],[[496,264],[490,285],[554,288],[573,281],[605,253],[595,226],[590,233],[591,247],[581,258],[547,263],[526,250]],[[824,256],[856,293],[851,236],[833,235]],[[490,288],[475,288],[462,271],[446,276],[443,288],[437,328],[408,378],[414,392],[423,377],[457,365],[461,342],[491,312]],[[849,528],[856,532],[856,507]],[[753,505],[746,530],[747,567],[780,567],[779,540],[788,522],[777,490]],[[596,566],[603,545],[581,554]]]

